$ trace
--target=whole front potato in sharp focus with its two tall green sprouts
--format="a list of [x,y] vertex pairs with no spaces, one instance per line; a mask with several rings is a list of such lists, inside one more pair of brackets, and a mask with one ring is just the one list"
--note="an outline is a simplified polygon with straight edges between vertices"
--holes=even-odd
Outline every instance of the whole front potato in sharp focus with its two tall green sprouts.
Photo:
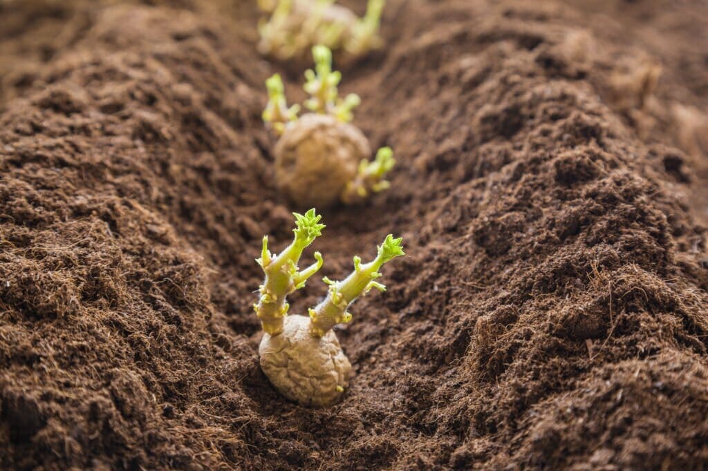
[[288,315],[287,294],[302,288],[322,265],[322,257],[316,252],[317,262],[297,271],[302,249],[321,235],[324,225],[319,224],[320,216],[314,209],[304,215],[294,214],[295,240],[280,255],[271,255],[268,238],[264,237],[261,258],[256,260],[265,272],[261,297],[254,306],[265,331],[258,347],[259,361],[270,383],[287,399],[300,405],[327,407],[341,400],[351,376],[351,364],[333,327],[350,322],[348,308],[356,298],[371,289],[386,290],[377,281],[382,277],[379,269],[405,253],[402,239],[389,234],[374,260],[362,263],[360,257],[354,257],[354,271],[348,277],[342,281],[324,278],[329,285],[327,296],[308,309],[308,316]]

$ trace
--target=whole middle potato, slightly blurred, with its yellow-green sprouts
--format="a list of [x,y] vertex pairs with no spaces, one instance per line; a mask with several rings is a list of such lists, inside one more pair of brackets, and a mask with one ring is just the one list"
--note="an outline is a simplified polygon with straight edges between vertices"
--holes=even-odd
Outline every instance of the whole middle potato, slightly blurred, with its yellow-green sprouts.
[[314,70],[305,73],[304,90],[309,113],[297,117],[299,107],[287,107],[278,74],[266,81],[268,104],[263,121],[280,136],[275,144],[275,180],[280,191],[299,207],[355,204],[389,187],[384,174],[395,163],[389,148],[379,149],[370,163],[369,142],[353,124],[353,110],[361,100],[355,93],[340,98],[339,71],[332,69],[328,47],[312,48]]

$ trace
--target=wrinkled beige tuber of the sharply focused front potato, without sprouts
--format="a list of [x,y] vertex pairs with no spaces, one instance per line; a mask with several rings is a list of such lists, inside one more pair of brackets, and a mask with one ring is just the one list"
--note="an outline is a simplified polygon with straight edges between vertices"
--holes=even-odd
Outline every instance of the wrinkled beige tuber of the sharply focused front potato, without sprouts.
[[309,318],[288,315],[281,334],[263,335],[258,354],[270,383],[299,405],[328,407],[349,385],[351,364],[331,330],[309,335]]

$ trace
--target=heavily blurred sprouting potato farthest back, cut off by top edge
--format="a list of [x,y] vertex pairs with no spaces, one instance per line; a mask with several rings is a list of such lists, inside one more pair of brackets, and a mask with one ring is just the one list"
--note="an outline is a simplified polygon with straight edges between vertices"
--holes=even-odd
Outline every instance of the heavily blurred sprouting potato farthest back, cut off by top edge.
[[334,0],[258,0],[261,10],[270,13],[270,18],[258,23],[258,49],[287,60],[321,44],[360,57],[382,44],[379,27],[384,4],[384,0],[370,0],[365,16],[358,18]]

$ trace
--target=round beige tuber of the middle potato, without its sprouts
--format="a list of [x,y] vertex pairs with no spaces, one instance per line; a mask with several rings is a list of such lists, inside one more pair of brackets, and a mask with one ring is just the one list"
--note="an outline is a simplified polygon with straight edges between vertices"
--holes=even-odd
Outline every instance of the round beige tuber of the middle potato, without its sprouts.
[[370,153],[352,124],[309,113],[288,123],[275,144],[275,180],[297,207],[332,207]]

